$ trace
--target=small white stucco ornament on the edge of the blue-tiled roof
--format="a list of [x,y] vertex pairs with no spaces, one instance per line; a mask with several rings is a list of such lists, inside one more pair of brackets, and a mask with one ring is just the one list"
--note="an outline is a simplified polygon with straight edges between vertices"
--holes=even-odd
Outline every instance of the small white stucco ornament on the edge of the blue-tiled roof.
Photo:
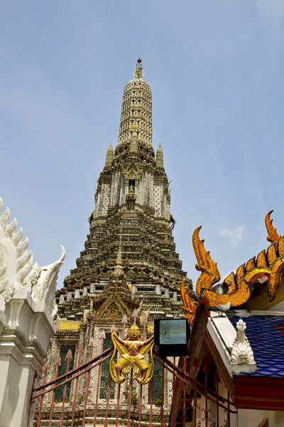
[[236,324],[236,338],[231,349],[231,367],[233,372],[256,371],[256,362],[249,339],[246,337],[246,323],[239,319]]

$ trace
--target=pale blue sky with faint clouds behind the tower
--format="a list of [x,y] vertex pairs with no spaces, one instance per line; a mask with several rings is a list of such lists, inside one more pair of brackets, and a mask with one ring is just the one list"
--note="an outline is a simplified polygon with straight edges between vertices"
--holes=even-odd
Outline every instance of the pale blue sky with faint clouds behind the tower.
[[267,211],[284,234],[284,0],[3,1],[0,196],[40,265],[65,246],[60,286],[138,56],[188,276],[197,226],[222,276],[267,248]]

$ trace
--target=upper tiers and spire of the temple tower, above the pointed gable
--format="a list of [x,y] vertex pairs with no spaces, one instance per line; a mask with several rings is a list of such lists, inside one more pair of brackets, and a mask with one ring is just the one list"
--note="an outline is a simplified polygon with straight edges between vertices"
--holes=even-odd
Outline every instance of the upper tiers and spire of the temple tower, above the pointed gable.
[[186,277],[175,252],[168,176],[163,149],[152,146],[152,95],[143,80],[141,59],[124,88],[119,142],[107,149],[97,180],[89,236],[77,268],[58,291],[58,315],[77,319],[82,306],[106,288],[116,265],[121,239],[121,269],[133,297],[155,315],[180,313],[178,288]]

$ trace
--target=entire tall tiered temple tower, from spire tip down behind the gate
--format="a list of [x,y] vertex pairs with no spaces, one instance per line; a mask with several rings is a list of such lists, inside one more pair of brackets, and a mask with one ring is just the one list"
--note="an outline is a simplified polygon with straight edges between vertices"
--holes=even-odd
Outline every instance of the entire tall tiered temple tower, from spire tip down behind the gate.
[[[172,235],[175,220],[170,213],[169,181],[163,165],[163,149],[159,146],[155,156],[152,146],[152,95],[148,83],[143,80],[140,58],[133,80],[124,89],[119,142],[115,151],[111,144],[107,149],[94,199],[84,251],[77,259],[77,268],[65,278],[63,288],[55,295],[57,334],[52,339],[48,356],[49,380],[54,378],[59,355],[61,364],[58,374],[66,372],[69,349],[73,356],[69,369],[77,367],[79,360],[82,364],[89,357],[108,349],[113,325],[117,328],[124,323],[119,330],[119,334],[124,336],[123,331],[133,322],[133,317],[138,325],[143,316],[144,319],[147,317],[148,325],[153,325],[156,317],[183,316],[178,290],[186,273],[182,271],[182,262],[175,252]],[[191,281],[187,282],[190,287]],[[80,354],[84,349],[80,359],[78,349]],[[92,351],[92,355],[89,351]],[[102,364],[101,374],[93,370],[89,382],[88,404],[94,402],[96,390],[99,389],[98,416],[101,421],[109,381],[108,363]],[[160,400],[162,392],[159,368],[157,366],[155,371],[153,404]],[[85,386],[80,379],[77,396],[84,396]],[[121,393],[126,396],[125,401],[121,401],[123,409],[129,398],[127,387],[121,387]],[[170,405],[167,387],[168,383],[165,384],[165,407]],[[55,392],[56,411],[59,412],[62,392],[63,387]],[[109,393],[110,399],[116,398],[116,384],[111,384]],[[68,402],[75,394],[75,390],[69,386],[66,394]],[[149,399],[148,387],[144,387],[146,412]],[[83,405],[80,402],[79,399],[79,418]],[[48,419],[48,398],[44,405],[43,411]],[[109,408],[111,411],[111,406]],[[156,412],[160,413],[160,409]],[[92,424],[94,411],[89,406],[87,416]]]

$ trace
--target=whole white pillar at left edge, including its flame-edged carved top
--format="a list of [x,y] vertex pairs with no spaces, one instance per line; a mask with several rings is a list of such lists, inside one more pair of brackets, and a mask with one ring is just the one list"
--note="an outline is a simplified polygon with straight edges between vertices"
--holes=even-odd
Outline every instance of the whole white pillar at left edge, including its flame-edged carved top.
[[9,208],[2,209],[0,199],[0,427],[31,427],[29,396],[56,332],[53,304],[65,249],[55,263],[33,264],[28,238],[22,241],[23,230],[16,232],[16,219],[9,222]]

